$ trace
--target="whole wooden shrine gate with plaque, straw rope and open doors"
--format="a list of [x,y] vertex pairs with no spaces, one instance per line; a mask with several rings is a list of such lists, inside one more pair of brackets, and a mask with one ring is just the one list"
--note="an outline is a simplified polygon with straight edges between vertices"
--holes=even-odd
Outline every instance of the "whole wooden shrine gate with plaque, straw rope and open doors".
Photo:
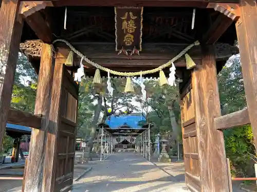
[[[231,192],[222,130],[251,124],[257,146],[257,5],[227,2],[2,0],[0,143],[7,122],[32,127],[23,191],[71,189],[81,78],[107,77],[112,96],[112,78],[126,77],[129,93],[141,76],[179,84],[187,187]],[[248,108],[221,116],[217,73],[236,40]],[[39,75],[34,114],[10,109],[19,48]]]

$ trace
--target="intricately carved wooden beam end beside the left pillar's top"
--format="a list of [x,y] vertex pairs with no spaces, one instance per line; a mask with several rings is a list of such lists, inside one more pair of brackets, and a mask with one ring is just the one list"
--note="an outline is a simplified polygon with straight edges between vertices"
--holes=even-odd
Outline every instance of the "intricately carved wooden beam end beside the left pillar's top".
[[41,57],[42,45],[42,40],[27,40],[20,44],[20,49],[27,56]]

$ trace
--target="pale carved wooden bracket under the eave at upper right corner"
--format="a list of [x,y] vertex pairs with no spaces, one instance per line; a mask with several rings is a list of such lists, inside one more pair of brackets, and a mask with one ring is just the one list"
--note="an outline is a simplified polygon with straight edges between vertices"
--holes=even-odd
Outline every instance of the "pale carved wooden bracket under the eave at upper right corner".
[[215,11],[221,12],[235,21],[240,17],[240,9],[238,4],[209,3],[207,8],[213,8]]

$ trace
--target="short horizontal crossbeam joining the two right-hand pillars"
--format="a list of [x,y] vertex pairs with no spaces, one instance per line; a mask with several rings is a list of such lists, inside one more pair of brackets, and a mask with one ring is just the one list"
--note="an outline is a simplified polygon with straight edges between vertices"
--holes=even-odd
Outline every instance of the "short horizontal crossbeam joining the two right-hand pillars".
[[229,129],[245,124],[250,124],[248,109],[243,109],[241,111],[215,118],[215,127],[217,130]]

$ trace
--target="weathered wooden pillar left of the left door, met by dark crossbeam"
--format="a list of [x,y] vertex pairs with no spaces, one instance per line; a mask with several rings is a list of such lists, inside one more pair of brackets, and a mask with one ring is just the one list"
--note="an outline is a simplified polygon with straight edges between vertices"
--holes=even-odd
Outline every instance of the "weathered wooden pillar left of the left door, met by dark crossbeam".
[[38,90],[36,93],[34,114],[42,114],[41,129],[32,129],[29,147],[28,164],[25,167],[26,177],[24,192],[42,191],[43,167],[45,162],[45,147],[47,127],[49,126],[49,111],[53,78],[54,58],[51,46],[44,44],[39,71]]

